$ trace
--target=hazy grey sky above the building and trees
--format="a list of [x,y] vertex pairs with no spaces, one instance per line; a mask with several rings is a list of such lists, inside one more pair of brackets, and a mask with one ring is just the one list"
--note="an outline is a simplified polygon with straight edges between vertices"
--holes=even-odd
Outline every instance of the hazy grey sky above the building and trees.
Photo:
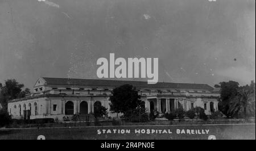
[[158,82],[249,84],[255,1],[0,0],[0,83],[97,79],[109,53],[158,57]]

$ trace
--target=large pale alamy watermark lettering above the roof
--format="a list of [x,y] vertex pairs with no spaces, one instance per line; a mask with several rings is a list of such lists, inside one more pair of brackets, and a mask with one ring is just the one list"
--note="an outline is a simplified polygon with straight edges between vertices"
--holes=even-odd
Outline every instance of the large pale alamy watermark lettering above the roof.
[[[115,54],[109,54],[107,58],[98,58],[97,65],[101,65],[97,69],[98,78],[139,78],[139,66],[141,65],[141,78],[146,78],[147,83],[155,84],[158,82],[158,58],[125,58],[119,57],[115,59]],[[117,68],[115,68],[117,65]],[[134,75],[134,77],[133,77]]]

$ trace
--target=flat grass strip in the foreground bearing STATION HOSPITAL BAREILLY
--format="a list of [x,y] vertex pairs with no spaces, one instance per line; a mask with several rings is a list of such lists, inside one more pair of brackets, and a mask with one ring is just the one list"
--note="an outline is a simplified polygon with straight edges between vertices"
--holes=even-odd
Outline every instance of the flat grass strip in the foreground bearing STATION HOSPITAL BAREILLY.
[[[105,133],[103,134],[104,129],[105,129]],[[115,131],[116,133],[114,133],[113,129],[117,129]],[[117,133],[118,129],[120,130],[120,133]],[[130,131],[130,133],[121,133],[121,129],[125,129],[125,131],[127,132]],[[136,133],[135,133],[135,129],[137,129]],[[145,130],[145,133],[142,133],[144,132],[143,129]],[[167,133],[160,133],[160,131],[164,132],[164,129],[166,129]],[[182,131],[183,129],[184,131]],[[98,134],[99,133],[98,131],[100,131],[101,134]],[[112,133],[106,133],[107,131]],[[141,133],[138,133],[138,131],[140,131]],[[150,133],[147,133],[147,131]],[[158,131],[158,133],[156,133],[156,131]],[[181,133],[181,131],[183,133]],[[55,128],[49,127],[49,128],[0,129],[0,140],[3,140],[3,139],[35,140],[39,135],[45,136],[46,139],[70,139],[70,140],[73,140],[73,139],[75,140],[77,139],[90,139],[90,140],[208,139],[210,135],[214,135],[216,139],[255,139],[255,124],[130,125],[130,126],[126,125],[126,126],[105,126],[105,127],[55,127]]]

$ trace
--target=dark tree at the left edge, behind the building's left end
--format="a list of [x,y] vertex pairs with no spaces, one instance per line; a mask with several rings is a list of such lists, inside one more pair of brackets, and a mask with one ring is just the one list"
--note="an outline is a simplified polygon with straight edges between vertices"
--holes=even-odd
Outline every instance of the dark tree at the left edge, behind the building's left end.
[[5,86],[0,84],[0,103],[2,107],[7,110],[7,104],[9,100],[16,99],[20,97],[24,97],[26,93],[28,93],[29,89],[25,89],[22,94],[23,84],[16,82],[15,79],[7,79],[5,81]]

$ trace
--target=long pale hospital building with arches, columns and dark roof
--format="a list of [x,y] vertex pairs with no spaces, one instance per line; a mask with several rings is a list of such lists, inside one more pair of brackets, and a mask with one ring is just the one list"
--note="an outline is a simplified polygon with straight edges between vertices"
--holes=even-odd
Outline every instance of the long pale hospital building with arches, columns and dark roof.
[[108,109],[108,116],[116,116],[109,111],[110,97],[115,87],[125,84],[136,87],[147,112],[163,114],[179,107],[187,111],[199,106],[210,115],[218,110],[220,94],[205,84],[158,82],[148,85],[142,81],[42,77],[36,81],[31,94],[11,100],[8,111],[15,119],[63,120],[64,116],[93,113],[94,105],[101,104]]

